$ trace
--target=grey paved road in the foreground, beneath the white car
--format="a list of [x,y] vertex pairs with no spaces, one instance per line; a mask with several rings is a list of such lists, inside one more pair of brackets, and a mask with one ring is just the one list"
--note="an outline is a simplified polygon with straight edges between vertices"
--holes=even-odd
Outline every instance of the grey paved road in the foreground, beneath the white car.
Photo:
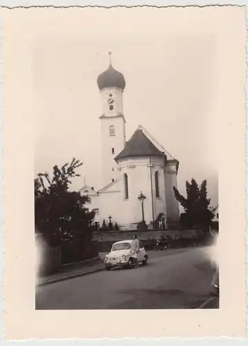
[[140,268],[38,286],[36,309],[195,309],[209,298],[207,248],[150,251]]

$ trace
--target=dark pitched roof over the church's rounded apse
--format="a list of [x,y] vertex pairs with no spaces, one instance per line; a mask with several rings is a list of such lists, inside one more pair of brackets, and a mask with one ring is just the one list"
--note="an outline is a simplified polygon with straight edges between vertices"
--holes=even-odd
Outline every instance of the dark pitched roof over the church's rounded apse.
[[115,157],[115,161],[130,156],[164,156],[164,152],[160,152],[155,147],[151,140],[143,133],[142,129],[137,129],[131,139],[126,143],[126,147]]

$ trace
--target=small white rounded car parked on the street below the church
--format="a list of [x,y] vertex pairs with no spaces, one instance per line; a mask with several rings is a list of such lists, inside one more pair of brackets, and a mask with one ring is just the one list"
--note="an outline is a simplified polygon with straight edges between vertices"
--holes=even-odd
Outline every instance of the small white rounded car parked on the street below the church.
[[[122,240],[121,242],[116,242],[111,248],[111,252],[104,258],[104,264],[107,271],[111,268],[116,267],[126,267],[133,268],[134,261],[131,256],[131,242],[132,240]],[[137,253],[137,261],[142,264],[147,264],[148,255],[144,249],[144,246],[139,241],[139,252]]]

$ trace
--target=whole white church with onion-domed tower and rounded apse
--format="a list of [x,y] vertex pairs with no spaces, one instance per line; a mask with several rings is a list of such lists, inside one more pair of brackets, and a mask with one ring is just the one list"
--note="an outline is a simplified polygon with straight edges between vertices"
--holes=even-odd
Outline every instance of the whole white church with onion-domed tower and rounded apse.
[[140,125],[126,140],[123,113],[124,76],[110,60],[97,78],[102,99],[101,174],[102,188],[84,184],[87,208],[95,210],[95,223],[111,222],[120,230],[167,229],[179,222],[179,205],[174,197],[179,162]]

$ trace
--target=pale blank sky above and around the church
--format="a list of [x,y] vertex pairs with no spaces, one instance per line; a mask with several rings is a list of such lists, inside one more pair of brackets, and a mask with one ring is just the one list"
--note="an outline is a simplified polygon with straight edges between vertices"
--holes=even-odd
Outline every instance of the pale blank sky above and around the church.
[[178,12],[174,20],[168,12],[156,21],[135,13],[118,17],[110,11],[104,19],[93,13],[86,19],[77,12],[74,23],[66,26],[62,12],[56,21],[47,17],[46,28],[37,30],[32,52],[35,173],[50,172],[53,165],[75,157],[83,165],[72,188],[82,188],[84,178],[87,185],[102,188],[97,76],[108,68],[111,51],[113,67],[126,80],[126,138],[143,125],[180,161],[180,192],[184,194],[186,180],[207,179],[216,206],[220,76],[211,18],[194,10]]

